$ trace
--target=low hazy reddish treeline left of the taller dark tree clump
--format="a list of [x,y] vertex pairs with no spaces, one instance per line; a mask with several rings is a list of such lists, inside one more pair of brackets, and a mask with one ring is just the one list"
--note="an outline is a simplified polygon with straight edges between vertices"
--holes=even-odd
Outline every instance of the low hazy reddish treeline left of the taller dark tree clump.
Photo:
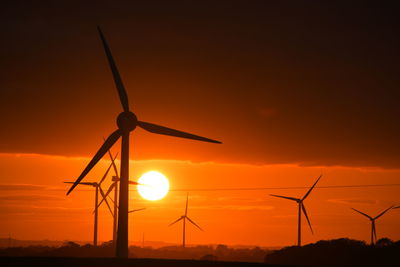
[[[79,245],[66,242],[60,247],[28,246],[9,247],[0,249],[0,256],[8,257],[113,257],[114,247],[111,242],[105,242],[94,247],[90,244]],[[230,248],[226,245],[194,246],[182,248],[168,246],[161,248],[129,247],[130,258],[158,258],[158,259],[196,259],[208,261],[241,261],[263,262],[265,255],[271,251],[255,248]]]

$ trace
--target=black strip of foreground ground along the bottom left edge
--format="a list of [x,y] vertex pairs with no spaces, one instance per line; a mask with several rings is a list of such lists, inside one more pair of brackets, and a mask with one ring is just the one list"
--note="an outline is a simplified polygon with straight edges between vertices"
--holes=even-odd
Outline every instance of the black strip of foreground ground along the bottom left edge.
[[114,258],[61,258],[61,257],[0,257],[0,266],[38,266],[38,267],[284,267],[287,265],[223,262],[201,260],[166,260],[166,259],[114,259]]

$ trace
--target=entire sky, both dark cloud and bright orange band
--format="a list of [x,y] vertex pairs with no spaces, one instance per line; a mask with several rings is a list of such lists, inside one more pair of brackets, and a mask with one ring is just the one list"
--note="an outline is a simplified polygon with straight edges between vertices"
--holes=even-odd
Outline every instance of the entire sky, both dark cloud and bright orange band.
[[[157,2],[157,1],[155,1]],[[107,37],[140,120],[222,145],[132,133],[131,175],[167,175],[172,188],[398,183],[400,38],[397,8],[295,1],[14,1],[0,10],[0,235],[91,240],[93,192],[66,197],[121,111],[96,31]],[[340,18],[340,19],[338,19]],[[117,152],[119,145],[113,147]],[[104,161],[85,181],[99,179]],[[340,167],[338,167],[340,166]],[[108,181],[109,182],[109,181]],[[296,205],[270,193],[193,191],[188,243],[289,245]],[[180,242],[167,225],[186,192],[162,201],[131,193],[130,240]],[[369,239],[372,215],[399,187],[317,189],[304,242]],[[399,239],[400,210],[377,222]],[[100,240],[111,238],[102,209]],[[304,225],[306,226],[306,225]],[[132,230],[133,229],[133,230]]]

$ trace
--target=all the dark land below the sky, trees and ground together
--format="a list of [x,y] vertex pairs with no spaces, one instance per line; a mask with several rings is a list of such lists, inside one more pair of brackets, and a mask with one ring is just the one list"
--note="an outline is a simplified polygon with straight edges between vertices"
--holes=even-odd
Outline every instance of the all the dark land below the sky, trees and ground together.
[[225,245],[139,248],[130,247],[129,259],[113,258],[109,244],[93,247],[68,242],[61,247],[0,249],[0,266],[310,266],[400,267],[400,241],[382,238],[375,245],[352,239],[321,240],[302,247],[269,251]]

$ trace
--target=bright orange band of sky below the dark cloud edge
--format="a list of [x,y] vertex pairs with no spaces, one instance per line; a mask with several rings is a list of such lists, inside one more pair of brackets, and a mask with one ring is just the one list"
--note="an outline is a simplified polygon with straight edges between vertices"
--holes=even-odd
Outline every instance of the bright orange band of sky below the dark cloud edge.
[[[94,192],[80,188],[66,196],[67,186],[87,158],[29,154],[1,154],[0,236],[20,239],[92,240]],[[86,181],[98,180],[109,161],[102,161]],[[22,166],[22,167],[21,167]],[[320,173],[320,185],[396,183],[398,170],[299,167],[296,165],[244,165],[189,161],[131,161],[132,177],[148,170],[168,176],[171,189],[309,186]],[[107,188],[111,178],[107,179]],[[6,185],[16,185],[13,188]],[[18,186],[19,185],[19,186]],[[268,194],[301,197],[306,189],[265,191],[193,191],[189,216],[204,232],[188,228],[189,244],[281,246],[296,242],[297,207]],[[369,240],[369,221],[350,207],[375,215],[399,204],[399,187],[316,189],[305,201],[315,234],[303,226],[303,242],[350,237]],[[131,192],[131,208],[146,207],[130,215],[130,240],[181,242],[181,226],[167,227],[184,209],[185,191],[171,191],[160,201],[142,199]],[[400,212],[393,210],[377,223],[378,237],[400,238]],[[303,220],[304,221],[304,220]],[[111,239],[111,215],[100,211],[100,240]],[[305,221],[304,221],[305,222]]]

